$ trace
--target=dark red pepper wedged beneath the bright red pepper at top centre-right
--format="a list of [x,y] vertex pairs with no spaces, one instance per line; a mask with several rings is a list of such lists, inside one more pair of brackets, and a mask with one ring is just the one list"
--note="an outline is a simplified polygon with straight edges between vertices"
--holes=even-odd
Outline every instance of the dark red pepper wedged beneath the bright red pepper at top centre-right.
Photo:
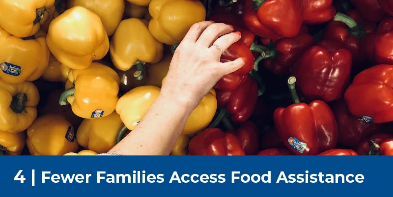
[[276,56],[263,60],[266,69],[277,75],[289,74],[290,67],[312,45],[314,39],[308,33],[299,33],[291,38],[282,38],[274,42]]

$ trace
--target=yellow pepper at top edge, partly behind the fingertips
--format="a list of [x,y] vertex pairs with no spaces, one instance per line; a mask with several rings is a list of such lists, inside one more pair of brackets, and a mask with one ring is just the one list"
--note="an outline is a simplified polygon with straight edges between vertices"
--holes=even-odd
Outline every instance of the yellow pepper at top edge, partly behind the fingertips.
[[167,45],[179,43],[192,25],[206,18],[199,0],[151,0],[149,13],[151,34]]

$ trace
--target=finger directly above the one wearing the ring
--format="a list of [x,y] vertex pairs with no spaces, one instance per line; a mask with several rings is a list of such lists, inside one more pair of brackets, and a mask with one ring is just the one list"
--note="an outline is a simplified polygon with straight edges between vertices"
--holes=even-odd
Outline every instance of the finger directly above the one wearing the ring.
[[218,37],[232,31],[233,27],[225,25],[224,23],[212,24],[202,32],[197,43],[202,46],[210,47]]

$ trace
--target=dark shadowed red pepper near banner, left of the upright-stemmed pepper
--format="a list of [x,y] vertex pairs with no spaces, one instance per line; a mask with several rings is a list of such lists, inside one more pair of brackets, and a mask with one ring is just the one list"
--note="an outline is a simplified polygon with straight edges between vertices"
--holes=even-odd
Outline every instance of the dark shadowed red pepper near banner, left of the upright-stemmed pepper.
[[258,128],[251,121],[246,121],[236,130],[228,130],[237,137],[246,155],[255,155],[259,150]]

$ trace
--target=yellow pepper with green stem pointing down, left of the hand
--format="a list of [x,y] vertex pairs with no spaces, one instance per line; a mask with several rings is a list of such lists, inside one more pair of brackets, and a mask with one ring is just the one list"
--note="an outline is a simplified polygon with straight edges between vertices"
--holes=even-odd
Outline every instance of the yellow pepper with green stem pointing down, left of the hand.
[[163,56],[163,44],[150,34],[144,22],[137,18],[120,22],[110,46],[112,62],[119,70],[137,66],[134,76],[141,80],[145,63],[156,63]]

